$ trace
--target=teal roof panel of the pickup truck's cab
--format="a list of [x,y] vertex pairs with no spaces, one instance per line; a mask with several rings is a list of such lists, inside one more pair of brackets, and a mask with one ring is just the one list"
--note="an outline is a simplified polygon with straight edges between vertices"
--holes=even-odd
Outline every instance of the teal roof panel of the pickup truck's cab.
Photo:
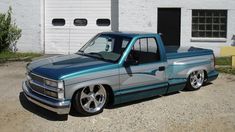
[[102,32],[102,34],[113,34],[113,35],[120,35],[120,36],[127,36],[127,37],[135,37],[135,36],[141,36],[141,35],[156,35],[157,33],[138,32],[138,31],[109,31],[109,32]]

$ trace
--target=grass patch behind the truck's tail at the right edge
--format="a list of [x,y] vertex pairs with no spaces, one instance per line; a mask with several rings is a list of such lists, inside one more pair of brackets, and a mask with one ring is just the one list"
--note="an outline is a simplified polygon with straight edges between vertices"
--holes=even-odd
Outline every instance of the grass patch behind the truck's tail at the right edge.
[[235,75],[235,68],[232,65],[231,57],[217,57],[215,60],[216,70],[221,73]]

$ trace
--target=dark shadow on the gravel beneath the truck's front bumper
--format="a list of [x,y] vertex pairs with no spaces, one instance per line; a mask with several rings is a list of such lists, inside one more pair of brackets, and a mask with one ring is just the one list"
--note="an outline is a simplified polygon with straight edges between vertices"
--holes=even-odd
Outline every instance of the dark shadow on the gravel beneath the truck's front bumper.
[[58,115],[54,112],[48,111],[44,108],[41,108],[30,101],[27,100],[23,92],[20,92],[19,94],[19,100],[20,104],[28,110],[29,112],[34,113],[35,115],[38,115],[44,119],[50,120],[50,121],[66,121],[68,120],[68,115]]

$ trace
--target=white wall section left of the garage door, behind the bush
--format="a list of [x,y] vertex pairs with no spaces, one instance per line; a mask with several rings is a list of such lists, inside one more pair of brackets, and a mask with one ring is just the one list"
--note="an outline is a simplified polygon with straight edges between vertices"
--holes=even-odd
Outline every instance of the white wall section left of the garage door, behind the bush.
[[41,0],[1,0],[0,12],[6,12],[9,6],[13,18],[22,36],[17,43],[19,51],[42,52],[41,46]]

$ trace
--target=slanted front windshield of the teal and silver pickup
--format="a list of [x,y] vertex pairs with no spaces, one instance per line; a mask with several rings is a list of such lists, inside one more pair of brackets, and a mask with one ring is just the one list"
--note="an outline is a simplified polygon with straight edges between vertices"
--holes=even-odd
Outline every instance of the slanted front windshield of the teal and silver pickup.
[[130,40],[118,35],[99,34],[86,43],[79,52],[90,57],[117,62]]

